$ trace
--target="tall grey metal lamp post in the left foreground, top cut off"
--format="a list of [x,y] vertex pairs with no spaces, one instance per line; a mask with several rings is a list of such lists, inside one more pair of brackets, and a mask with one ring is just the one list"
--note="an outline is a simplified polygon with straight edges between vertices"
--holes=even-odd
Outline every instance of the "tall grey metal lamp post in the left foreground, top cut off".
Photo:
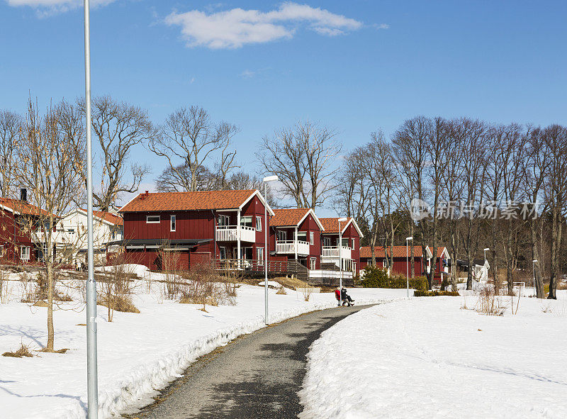
[[96,361],[96,282],[93,243],[93,154],[91,140],[91,33],[89,0],[84,0],[84,96],[86,119],[86,395],[89,419],[99,415],[99,379]]

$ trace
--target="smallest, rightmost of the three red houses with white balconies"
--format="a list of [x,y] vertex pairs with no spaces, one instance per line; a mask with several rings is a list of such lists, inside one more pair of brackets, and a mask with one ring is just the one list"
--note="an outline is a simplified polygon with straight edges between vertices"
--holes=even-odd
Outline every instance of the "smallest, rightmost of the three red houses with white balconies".
[[321,263],[339,267],[339,258],[342,258],[342,269],[357,275],[360,269],[360,239],[364,237],[357,222],[354,218],[340,223],[339,218],[320,218],[320,221],[324,228],[321,233]]

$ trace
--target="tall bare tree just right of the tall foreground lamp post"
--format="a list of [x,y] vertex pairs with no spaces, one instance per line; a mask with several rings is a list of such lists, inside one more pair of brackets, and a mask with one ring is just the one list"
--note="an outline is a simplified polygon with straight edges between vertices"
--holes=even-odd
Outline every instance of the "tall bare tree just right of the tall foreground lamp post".
[[[84,111],[84,100],[79,103]],[[147,165],[135,162],[128,167],[128,162],[133,147],[155,138],[156,131],[146,111],[110,96],[93,99],[92,127],[102,150],[101,191],[93,197],[101,211],[108,211],[120,194],[137,191],[150,171]]]

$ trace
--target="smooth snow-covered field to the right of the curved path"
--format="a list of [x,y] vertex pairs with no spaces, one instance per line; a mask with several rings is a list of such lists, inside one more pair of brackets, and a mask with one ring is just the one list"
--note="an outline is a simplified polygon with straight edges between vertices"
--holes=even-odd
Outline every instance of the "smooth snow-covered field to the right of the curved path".
[[498,317],[464,301],[395,301],[326,330],[300,418],[567,418],[566,291]]

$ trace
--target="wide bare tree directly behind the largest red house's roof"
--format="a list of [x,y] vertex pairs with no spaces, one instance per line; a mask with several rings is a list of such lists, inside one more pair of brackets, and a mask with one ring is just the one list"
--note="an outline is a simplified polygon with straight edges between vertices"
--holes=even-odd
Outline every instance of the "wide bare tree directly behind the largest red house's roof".
[[223,181],[235,168],[236,152],[228,152],[228,147],[238,131],[236,125],[230,123],[213,123],[207,111],[199,106],[179,108],[167,117],[160,135],[151,138],[148,147],[157,156],[167,159],[182,189],[197,191],[198,172],[215,152],[220,152],[218,172]]

